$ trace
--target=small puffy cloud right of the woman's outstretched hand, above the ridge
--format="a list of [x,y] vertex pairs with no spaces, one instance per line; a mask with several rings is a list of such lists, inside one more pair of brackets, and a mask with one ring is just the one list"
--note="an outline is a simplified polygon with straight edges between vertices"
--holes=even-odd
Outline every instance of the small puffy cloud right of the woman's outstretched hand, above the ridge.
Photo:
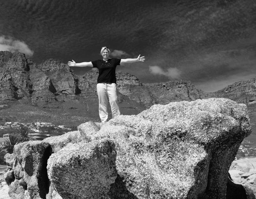
[[166,72],[159,66],[149,66],[149,72],[154,75],[164,75],[170,79],[180,79],[180,70],[177,68],[168,68]]

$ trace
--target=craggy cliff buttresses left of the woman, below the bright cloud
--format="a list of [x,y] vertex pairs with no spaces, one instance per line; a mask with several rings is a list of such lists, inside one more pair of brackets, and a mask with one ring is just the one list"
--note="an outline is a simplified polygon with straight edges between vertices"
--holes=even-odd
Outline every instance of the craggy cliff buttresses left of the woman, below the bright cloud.
[[78,77],[60,60],[49,59],[36,65],[23,53],[0,51],[0,72],[1,100],[32,98],[35,105],[56,102],[56,96],[80,93]]

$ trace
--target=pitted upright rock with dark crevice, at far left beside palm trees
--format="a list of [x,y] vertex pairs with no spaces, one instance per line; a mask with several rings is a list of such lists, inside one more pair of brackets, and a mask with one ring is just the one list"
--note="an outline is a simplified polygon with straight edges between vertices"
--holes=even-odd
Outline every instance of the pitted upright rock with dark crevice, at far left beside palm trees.
[[[8,176],[9,195],[12,199],[43,199],[49,192],[47,159],[51,154],[49,143],[23,142],[14,146],[15,160]],[[13,179],[10,176],[13,175]]]

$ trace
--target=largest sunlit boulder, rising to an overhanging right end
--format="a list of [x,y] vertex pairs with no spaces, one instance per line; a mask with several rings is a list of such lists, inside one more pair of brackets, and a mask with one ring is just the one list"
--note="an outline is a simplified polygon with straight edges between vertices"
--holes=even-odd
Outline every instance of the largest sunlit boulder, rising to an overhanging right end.
[[113,198],[224,199],[229,166],[250,133],[244,104],[212,98],[121,115],[88,137],[116,143]]

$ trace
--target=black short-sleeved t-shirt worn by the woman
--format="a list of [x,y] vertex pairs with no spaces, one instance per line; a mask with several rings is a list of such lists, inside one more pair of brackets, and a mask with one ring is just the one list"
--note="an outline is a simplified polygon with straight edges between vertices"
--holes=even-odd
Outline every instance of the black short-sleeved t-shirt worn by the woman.
[[112,58],[108,61],[98,59],[92,61],[93,67],[99,69],[99,77],[97,83],[115,83],[116,84],[116,66],[120,65],[121,59]]

